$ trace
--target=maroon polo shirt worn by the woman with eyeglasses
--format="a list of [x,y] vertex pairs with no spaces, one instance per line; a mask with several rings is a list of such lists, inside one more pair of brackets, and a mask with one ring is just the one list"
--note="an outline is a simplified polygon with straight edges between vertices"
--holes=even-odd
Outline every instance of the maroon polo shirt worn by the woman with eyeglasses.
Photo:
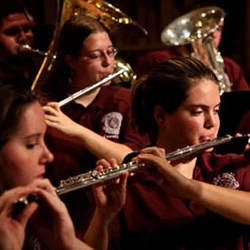
[[[97,134],[123,143],[132,150],[139,150],[148,145],[148,141],[136,133],[130,124],[130,95],[131,91],[126,88],[103,87],[87,108],[72,102],[65,105],[62,111]],[[47,168],[48,177],[54,185],[95,168],[97,158],[81,141],[49,128],[46,142],[54,154],[54,161]],[[70,212],[77,234],[83,236],[95,207],[91,187],[70,192],[61,198]]]

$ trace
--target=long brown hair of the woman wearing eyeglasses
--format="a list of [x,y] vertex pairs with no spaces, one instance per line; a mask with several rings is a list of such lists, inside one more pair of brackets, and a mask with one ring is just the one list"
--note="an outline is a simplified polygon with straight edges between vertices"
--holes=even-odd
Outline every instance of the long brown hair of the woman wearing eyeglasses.
[[[108,32],[97,19],[87,15],[76,15],[68,19],[59,35],[57,59],[48,84],[42,90],[54,101],[67,97],[71,69],[64,61],[65,55],[77,57],[85,39],[93,33]],[[109,34],[110,35],[110,34]]]

